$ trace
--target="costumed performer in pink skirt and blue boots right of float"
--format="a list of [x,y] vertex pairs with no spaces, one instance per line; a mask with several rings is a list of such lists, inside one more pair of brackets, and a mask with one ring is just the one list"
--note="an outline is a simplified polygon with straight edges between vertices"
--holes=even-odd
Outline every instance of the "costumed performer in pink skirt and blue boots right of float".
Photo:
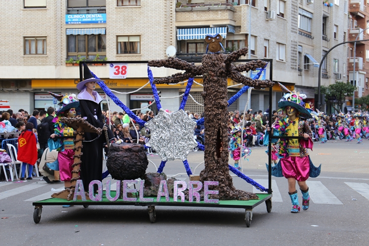
[[[283,87],[282,89],[284,89]],[[300,211],[296,181],[302,192],[302,209],[307,210],[309,208],[310,196],[306,180],[309,176],[316,177],[320,173],[320,166],[319,168],[315,168],[312,165],[309,153],[307,152],[307,148],[312,149],[313,146],[312,132],[307,121],[312,116],[304,107],[305,104],[302,101],[304,98],[306,98],[306,95],[291,91],[288,91],[282,97],[278,103],[278,107],[286,111],[287,117],[278,121],[272,127],[271,132],[274,136],[281,136],[278,153],[281,159],[273,168],[280,167],[282,169],[281,174],[288,180],[288,193],[292,202],[291,213],[298,213]],[[267,131],[270,131],[269,127]],[[283,136],[300,136],[303,138],[283,139]],[[272,141],[277,140],[272,139]],[[318,169],[318,171],[315,169]],[[282,175],[275,176],[281,177]]]

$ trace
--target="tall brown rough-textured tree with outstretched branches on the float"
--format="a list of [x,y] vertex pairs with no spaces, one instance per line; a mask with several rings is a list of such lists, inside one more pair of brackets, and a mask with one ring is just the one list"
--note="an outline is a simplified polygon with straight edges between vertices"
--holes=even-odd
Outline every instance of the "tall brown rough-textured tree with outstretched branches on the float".
[[154,80],[155,84],[178,83],[180,81],[203,75],[204,78],[204,118],[205,118],[205,169],[200,173],[200,181],[218,181],[218,186],[211,189],[219,190],[219,195],[212,198],[220,200],[252,200],[258,199],[255,193],[237,190],[233,186],[232,177],[228,169],[228,136],[227,136],[227,77],[237,83],[243,83],[254,88],[266,88],[273,86],[270,80],[253,80],[241,74],[243,71],[255,70],[266,65],[261,60],[251,61],[235,66],[232,64],[241,56],[247,54],[247,47],[235,51],[229,55],[205,54],[202,65],[195,66],[178,58],[150,61],[152,67],[167,67],[178,70],[186,70],[169,77]]

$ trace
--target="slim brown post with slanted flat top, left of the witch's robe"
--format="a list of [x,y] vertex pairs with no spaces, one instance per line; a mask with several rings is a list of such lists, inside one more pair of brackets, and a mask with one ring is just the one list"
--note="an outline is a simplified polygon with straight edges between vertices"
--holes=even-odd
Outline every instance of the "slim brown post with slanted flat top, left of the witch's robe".
[[[70,201],[73,199],[76,182],[80,178],[79,172],[81,171],[80,164],[81,164],[81,156],[83,155],[81,150],[82,150],[82,141],[84,140],[83,138],[84,132],[93,132],[93,133],[98,133],[100,135],[102,130],[100,128],[96,128],[95,126],[89,124],[83,118],[63,117],[60,119],[60,121],[65,123],[69,127],[72,127],[76,131],[76,139],[74,140],[75,147],[73,149],[74,150],[74,156],[73,156],[74,163],[72,165],[72,168],[73,168],[72,178],[70,180],[72,185],[61,192],[52,194],[51,197],[52,198],[62,198],[62,199],[66,199],[67,201]],[[85,194],[86,194],[86,199],[89,200],[88,192],[85,192]],[[77,200],[81,200],[80,195],[77,196]]]

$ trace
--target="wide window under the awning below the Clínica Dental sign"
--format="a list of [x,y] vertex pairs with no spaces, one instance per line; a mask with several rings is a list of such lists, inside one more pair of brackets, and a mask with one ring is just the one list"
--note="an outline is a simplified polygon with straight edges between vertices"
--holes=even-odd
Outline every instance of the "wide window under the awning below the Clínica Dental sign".
[[96,55],[106,56],[106,35],[68,35],[68,59],[95,59]]

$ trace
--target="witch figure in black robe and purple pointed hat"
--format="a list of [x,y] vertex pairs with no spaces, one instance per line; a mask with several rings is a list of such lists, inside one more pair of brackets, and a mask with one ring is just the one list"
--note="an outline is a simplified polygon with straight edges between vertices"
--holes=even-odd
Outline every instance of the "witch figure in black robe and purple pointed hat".
[[[96,82],[102,80],[95,79],[85,63],[83,66],[84,80],[77,84],[77,89],[80,90],[77,97],[81,109],[81,117],[96,128],[108,131],[109,141],[114,140],[113,132],[108,129],[102,118],[101,102],[103,99],[95,91]],[[81,156],[82,163],[80,166],[80,176],[84,187],[88,187],[89,183],[93,180],[102,181],[103,147],[106,142],[104,133],[101,135],[90,132],[84,133],[83,155]],[[97,190],[97,185],[94,185],[94,190]]]

